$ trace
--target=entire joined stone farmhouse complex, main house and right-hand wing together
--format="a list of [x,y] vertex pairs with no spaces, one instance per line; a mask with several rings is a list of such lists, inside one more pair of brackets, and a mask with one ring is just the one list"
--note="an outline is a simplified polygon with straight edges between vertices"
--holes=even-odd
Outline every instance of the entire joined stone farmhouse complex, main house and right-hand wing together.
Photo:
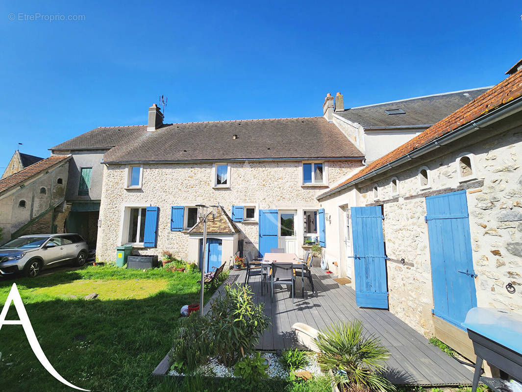
[[[206,271],[318,244],[359,306],[471,358],[470,307],[522,311],[521,64],[491,88],[349,109],[328,94],[318,117],[167,124],[154,104],[147,125],[51,148],[67,160],[52,229],[105,262],[124,244],[200,265],[205,252]],[[205,246],[200,204],[219,206]]]

